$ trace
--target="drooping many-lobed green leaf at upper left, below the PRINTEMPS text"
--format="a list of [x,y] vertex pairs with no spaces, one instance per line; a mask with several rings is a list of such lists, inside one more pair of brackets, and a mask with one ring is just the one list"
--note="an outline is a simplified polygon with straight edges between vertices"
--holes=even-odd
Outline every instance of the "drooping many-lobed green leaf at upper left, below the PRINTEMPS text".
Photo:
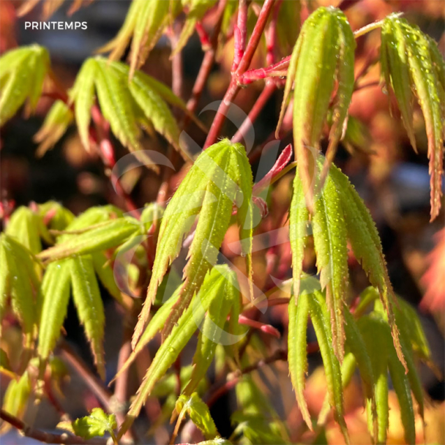
[[140,127],[152,125],[180,150],[180,130],[167,103],[182,110],[187,109],[186,105],[166,85],[145,73],[136,71],[129,81],[129,70],[122,62],[101,57],[87,59],[82,65],[70,92],[82,144],[89,147],[91,108],[97,96],[103,116],[122,145],[140,149]]

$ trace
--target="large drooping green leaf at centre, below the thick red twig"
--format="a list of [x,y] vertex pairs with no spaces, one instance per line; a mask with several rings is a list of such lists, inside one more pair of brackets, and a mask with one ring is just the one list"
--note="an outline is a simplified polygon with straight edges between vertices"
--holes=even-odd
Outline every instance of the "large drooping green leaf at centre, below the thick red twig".
[[[184,268],[180,298],[166,321],[163,337],[189,305],[203,283],[207,270],[217,261],[221,242],[231,221],[233,204],[247,214],[251,200],[252,178],[245,148],[229,140],[202,152],[171,198],[159,228],[159,241],[143,310],[133,334],[133,349],[142,334],[149,309],[168,266],[180,252],[182,240],[199,214],[194,240]],[[249,252],[247,252],[249,254]]]

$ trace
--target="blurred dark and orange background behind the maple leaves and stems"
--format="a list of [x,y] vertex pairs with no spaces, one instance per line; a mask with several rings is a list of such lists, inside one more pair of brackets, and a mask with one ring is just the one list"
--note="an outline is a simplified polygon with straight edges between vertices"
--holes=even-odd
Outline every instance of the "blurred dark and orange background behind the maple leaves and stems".
[[[50,52],[54,73],[66,89],[73,85],[75,75],[82,62],[117,34],[129,8],[129,1],[126,0],[96,0],[68,17],[67,11],[71,2],[67,0],[61,4],[50,20],[87,22],[88,29],[85,31],[80,29],[40,31],[25,30],[24,21],[40,21],[42,17],[41,4],[24,17],[17,17],[17,9],[22,3],[9,0],[0,2],[0,51],[3,53],[17,45],[31,43],[45,46]],[[305,3],[303,11],[308,13],[317,6],[335,4],[335,1],[307,0],[303,3]],[[352,29],[358,29],[399,10],[404,12],[407,20],[418,24],[422,31],[435,38],[441,52],[445,52],[445,2],[443,0],[363,0],[347,9],[346,15]],[[211,15],[205,22],[205,26],[212,29]],[[370,57],[376,57],[378,47],[378,32],[373,32],[358,40],[356,50],[356,69],[358,71],[361,66],[367,64]],[[233,57],[232,40],[228,41],[226,48],[227,50],[219,54],[217,64],[212,69],[207,87],[198,105],[198,113],[208,103],[221,99],[228,87]],[[143,70],[167,85],[171,85],[169,57],[170,43],[167,38],[163,37],[150,54]],[[182,97],[186,101],[191,94],[202,58],[200,41],[195,35],[183,51]],[[260,66],[265,66],[264,54],[261,54],[261,51],[256,54],[253,61],[253,67]],[[374,80],[379,80],[378,64],[367,70],[363,83]],[[235,103],[245,112],[249,112],[262,89],[263,82],[249,85],[238,94]],[[270,138],[270,134],[275,131],[281,101],[282,91],[278,90],[272,94],[256,120],[254,124],[256,149],[258,149],[257,146],[265,143]],[[105,175],[99,156],[85,152],[74,127],[71,127],[59,143],[43,156],[36,153],[37,144],[34,143],[33,137],[40,128],[52,102],[53,99],[43,98],[38,105],[36,115],[24,119],[19,114],[1,131],[1,200],[6,203],[6,208],[9,208],[10,211],[19,205],[29,205],[31,201],[43,203],[46,200],[57,200],[75,214],[79,214],[92,205],[115,203],[122,206],[122,202]],[[388,102],[390,106],[388,106]],[[418,154],[409,144],[407,133],[402,126],[395,104],[391,98],[388,99],[388,94],[382,91],[381,86],[368,87],[356,92],[353,95],[350,114],[348,138],[340,147],[335,163],[349,175],[351,182],[355,184],[370,208],[381,235],[395,292],[418,308],[435,363],[443,374],[445,362],[444,212],[442,210],[439,217],[430,224],[427,141],[421,113],[417,110],[414,116]],[[200,119],[209,125],[213,115],[213,112],[204,112],[200,115]],[[193,126],[188,132],[198,144],[203,144],[205,133]],[[232,124],[226,124],[224,135],[230,137],[234,132],[235,128]],[[165,149],[161,140],[151,138],[145,140],[144,143],[147,149],[159,151]],[[115,147],[117,147],[118,158],[126,153],[117,141],[115,141]],[[270,156],[273,158],[270,159],[271,166],[277,155],[274,153]],[[258,159],[254,159],[254,156],[252,156],[252,166],[255,174],[258,169]],[[260,179],[264,173],[258,172],[256,180]],[[273,215],[270,216],[272,226],[282,224],[285,220],[291,198],[291,179],[292,174],[286,175],[268,196],[268,203],[272,203],[270,205],[273,206]],[[177,181],[177,177],[173,177],[172,180]],[[130,173],[122,177],[124,189],[131,194],[133,200],[140,207],[156,200],[160,184],[161,178],[156,173],[142,167],[131,170]],[[260,230],[263,229],[265,230],[264,227],[260,228]],[[289,251],[286,251],[285,247],[283,249],[279,255],[282,258],[286,255],[289,256]],[[358,293],[367,286],[367,279],[358,264],[351,260],[350,266],[354,291]],[[310,270],[311,267],[313,268],[313,258],[307,258],[307,268]],[[264,270],[265,265],[258,255],[255,263],[255,275],[260,282]],[[117,366],[122,323],[119,312],[105,292],[104,299],[109,303],[106,305],[108,313],[105,353],[108,377],[110,378],[114,375]],[[265,317],[265,321],[271,323],[281,332],[285,332],[287,323],[285,308],[272,308]],[[91,363],[87,344],[73,307],[68,310],[65,329],[69,344],[86,363]],[[270,340],[268,341],[270,342]],[[313,369],[319,363],[317,360],[314,358]],[[275,372],[286,376],[285,366],[280,367],[280,364],[277,364],[275,368]],[[308,383],[308,391],[312,396],[313,404],[317,402],[321,404],[323,400],[323,397],[319,395],[324,391],[324,383],[318,371],[312,374]],[[421,375],[425,389],[432,400],[427,422],[428,416],[430,416],[430,422],[439,425],[435,428],[435,432],[429,433],[432,442],[428,442],[445,443],[444,380],[435,376],[426,367],[422,368]],[[6,383],[4,382],[4,384]],[[133,386],[134,391],[138,386],[136,379]],[[1,387],[3,391],[3,381]],[[360,432],[363,425],[366,429],[365,414],[362,412],[363,410],[360,411],[360,401],[356,400],[357,397],[354,397],[353,391],[359,390],[357,388],[354,390],[352,385],[346,391],[346,407],[357,416],[357,431]],[[293,397],[291,391],[288,395],[283,395],[285,392],[282,392],[282,397],[289,397],[289,395]],[[75,373],[72,374],[69,384],[64,386],[63,393],[65,395],[64,409],[69,409],[73,417],[85,414],[85,404],[91,408],[97,403],[85,385],[76,379]],[[229,394],[227,397],[221,398],[215,405],[214,412],[212,411],[215,421],[219,423],[218,427],[222,435],[226,431],[230,434],[231,427],[227,414],[231,403],[233,400]],[[391,427],[393,430],[390,431],[390,440],[393,441],[392,443],[402,443],[400,442],[403,436],[402,427],[399,421],[397,430],[398,407],[394,397],[391,403],[393,408],[391,409],[390,425],[395,426]],[[288,408],[292,405],[285,398],[284,402],[277,400],[277,411],[284,416],[284,413],[289,413]],[[57,423],[58,413],[54,411],[54,407],[38,409],[30,415],[36,416],[35,422],[41,428],[54,428],[54,422]],[[292,419],[299,421],[299,415],[295,410],[291,411],[288,421]],[[334,427],[332,432],[328,432],[327,435],[329,443],[342,442],[342,438]],[[356,437],[360,437],[360,435],[357,433]],[[17,437],[8,439],[6,436],[1,439],[1,443],[15,444],[18,443],[18,440]],[[22,443],[31,443],[26,442],[25,439],[21,440],[25,441]],[[366,443],[365,439],[363,441],[360,442],[360,439],[356,439],[354,443]]]

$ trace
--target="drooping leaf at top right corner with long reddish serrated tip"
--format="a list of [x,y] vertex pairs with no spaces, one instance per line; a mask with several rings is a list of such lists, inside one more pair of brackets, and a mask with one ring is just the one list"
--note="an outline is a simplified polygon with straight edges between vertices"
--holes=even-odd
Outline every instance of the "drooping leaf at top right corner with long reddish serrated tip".
[[413,96],[425,119],[431,176],[431,220],[441,207],[444,159],[445,62],[432,38],[398,15],[388,15],[381,31],[381,71],[391,85],[411,145],[416,149],[412,124]]

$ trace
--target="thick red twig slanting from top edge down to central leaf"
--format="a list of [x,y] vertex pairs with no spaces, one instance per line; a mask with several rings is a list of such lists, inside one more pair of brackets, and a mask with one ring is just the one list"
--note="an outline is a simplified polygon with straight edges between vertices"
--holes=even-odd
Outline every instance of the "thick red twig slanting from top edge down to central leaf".
[[268,17],[274,4],[275,0],[265,0],[263,3],[263,8],[261,8],[261,12],[258,15],[258,20],[256,21],[254,31],[249,39],[249,43],[247,43],[247,48],[244,54],[242,54],[242,59],[240,60],[240,64],[238,64],[238,68],[236,69],[235,73],[232,73],[231,83],[228,86],[226,94],[224,95],[224,99],[219,104],[217,115],[213,119],[212,126],[210,127],[207,139],[205,140],[204,149],[214,144],[219,136],[224,119],[226,119],[228,108],[240,89],[239,79],[242,74],[245,73],[247,68],[249,68],[251,59],[254,57],[254,53],[258,47],[265,24],[268,21]]

